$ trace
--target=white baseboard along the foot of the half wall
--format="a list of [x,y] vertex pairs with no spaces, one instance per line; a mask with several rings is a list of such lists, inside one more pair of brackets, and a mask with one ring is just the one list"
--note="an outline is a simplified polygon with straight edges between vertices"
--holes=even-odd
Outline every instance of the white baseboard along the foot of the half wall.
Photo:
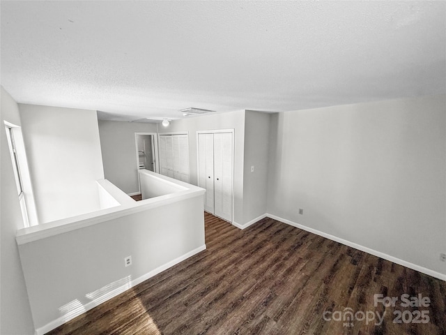
[[[197,253],[199,253],[203,250],[206,250],[206,244],[203,244],[202,246],[199,246],[198,248],[195,248],[194,250],[189,251],[188,253],[185,253],[184,255],[181,255],[180,257],[175,258],[174,260],[171,260],[170,262],[167,262],[164,265],[160,265],[156,269],[149,271],[147,274],[143,274],[142,276],[133,279],[132,281],[130,281],[130,287],[128,286],[128,284],[125,284],[119,288],[114,289],[112,292],[109,293],[109,298],[107,300],[101,301],[100,304],[104,303],[105,301],[108,301],[109,299],[116,297],[117,295],[120,295],[122,292],[125,292],[126,290],[130,290],[130,288],[133,288],[134,286],[138,285],[139,283],[146,281],[148,278],[151,278],[153,276],[156,276],[157,274],[160,274],[162,271],[169,269],[169,267],[173,267],[174,265],[177,265],[178,263],[183,262],[183,260],[187,260],[187,258],[190,258],[193,255],[196,255]],[[99,306],[100,304],[96,303],[95,301],[90,301],[89,303],[84,305],[85,312],[90,311],[92,308],[95,308],[96,306]],[[73,318],[76,318],[76,315],[73,316]],[[66,323],[68,321],[69,320],[66,319],[66,315],[63,315],[60,318],[57,318],[56,320],[52,320],[51,322],[48,322],[47,325],[36,329],[36,332],[34,334],[36,334],[36,335],[46,334],[47,332],[51,332],[53,329],[56,329],[57,327],[63,325],[64,323]]]

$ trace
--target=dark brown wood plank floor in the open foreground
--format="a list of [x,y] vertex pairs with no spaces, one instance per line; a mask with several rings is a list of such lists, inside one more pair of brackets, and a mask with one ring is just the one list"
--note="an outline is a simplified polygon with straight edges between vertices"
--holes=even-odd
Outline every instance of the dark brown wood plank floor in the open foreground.
[[206,251],[48,334],[446,334],[445,281],[270,218],[205,218]]

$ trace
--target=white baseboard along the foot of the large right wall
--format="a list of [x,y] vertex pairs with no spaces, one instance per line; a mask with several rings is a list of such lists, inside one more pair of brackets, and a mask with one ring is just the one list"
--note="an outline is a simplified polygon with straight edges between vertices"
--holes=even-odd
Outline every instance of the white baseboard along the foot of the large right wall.
[[389,260],[390,262],[394,262],[399,265],[402,265],[403,267],[408,267],[409,269],[413,269],[415,271],[420,271],[423,274],[427,274],[429,276],[433,276],[435,278],[441,279],[442,281],[446,281],[446,274],[441,274],[440,272],[433,271],[431,269],[427,269],[426,267],[421,267],[420,265],[416,265],[416,264],[407,262],[406,260],[401,260],[394,256],[387,255],[387,253],[381,253],[380,251],[376,251],[374,249],[367,248],[367,246],[361,246],[360,244],[355,244],[354,242],[347,241],[346,239],[341,239],[341,238],[333,236],[331,234],[327,234],[325,232],[321,232],[319,230],[309,228],[306,225],[300,225],[299,223],[289,221],[286,218],[281,218],[279,216],[275,216],[275,215],[268,214],[268,213],[266,214],[266,216],[268,216],[268,218],[273,218],[277,221],[286,223],[287,225],[292,225],[295,228],[300,228],[307,232],[312,232],[313,234],[319,235],[321,237],[325,237],[326,239],[331,239],[332,241],[339,242],[340,244],[344,244],[346,246],[351,246],[352,248],[355,248],[357,250],[364,251],[364,253],[369,253],[371,255],[375,255],[379,258],[383,258],[384,260]]

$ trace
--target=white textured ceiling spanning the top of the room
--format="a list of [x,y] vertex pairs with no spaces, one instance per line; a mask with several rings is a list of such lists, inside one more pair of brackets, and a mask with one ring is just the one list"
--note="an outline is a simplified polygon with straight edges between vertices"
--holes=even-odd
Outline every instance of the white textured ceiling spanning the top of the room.
[[1,84],[19,103],[130,120],[446,92],[445,1],[1,1],[0,9]]

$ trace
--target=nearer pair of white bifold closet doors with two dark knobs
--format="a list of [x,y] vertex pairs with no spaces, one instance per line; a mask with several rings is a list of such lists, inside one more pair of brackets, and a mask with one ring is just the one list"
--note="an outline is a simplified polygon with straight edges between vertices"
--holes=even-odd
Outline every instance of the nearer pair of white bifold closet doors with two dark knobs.
[[204,210],[232,222],[233,129],[197,131],[198,184],[206,188]]

